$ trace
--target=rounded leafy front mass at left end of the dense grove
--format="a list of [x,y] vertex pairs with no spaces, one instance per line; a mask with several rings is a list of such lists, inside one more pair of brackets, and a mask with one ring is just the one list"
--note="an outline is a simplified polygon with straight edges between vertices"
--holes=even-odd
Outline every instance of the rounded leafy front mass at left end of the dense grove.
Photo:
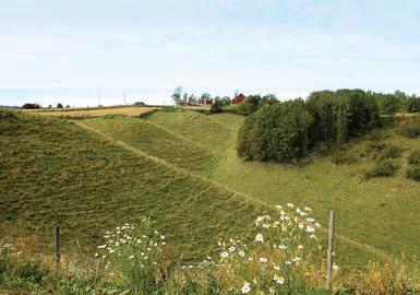
[[298,160],[308,152],[311,116],[302,101],[265,105],[238,131],[237,151],[245,160]]

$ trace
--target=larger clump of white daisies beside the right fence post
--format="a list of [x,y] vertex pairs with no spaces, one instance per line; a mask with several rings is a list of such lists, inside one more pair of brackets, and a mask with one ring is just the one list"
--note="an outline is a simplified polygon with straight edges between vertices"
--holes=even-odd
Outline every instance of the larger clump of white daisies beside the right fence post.
[[293,203],[275,205],[274,214],[256,217],[249,247],[238,239],[218,243],[221,263],[237,269],[239,280],[244,282],[240,293],[283,293],[298,268],[308,263],[312,247],[321,247],[316,237],[321,225],[310,216],[311,212],[311,208]]

